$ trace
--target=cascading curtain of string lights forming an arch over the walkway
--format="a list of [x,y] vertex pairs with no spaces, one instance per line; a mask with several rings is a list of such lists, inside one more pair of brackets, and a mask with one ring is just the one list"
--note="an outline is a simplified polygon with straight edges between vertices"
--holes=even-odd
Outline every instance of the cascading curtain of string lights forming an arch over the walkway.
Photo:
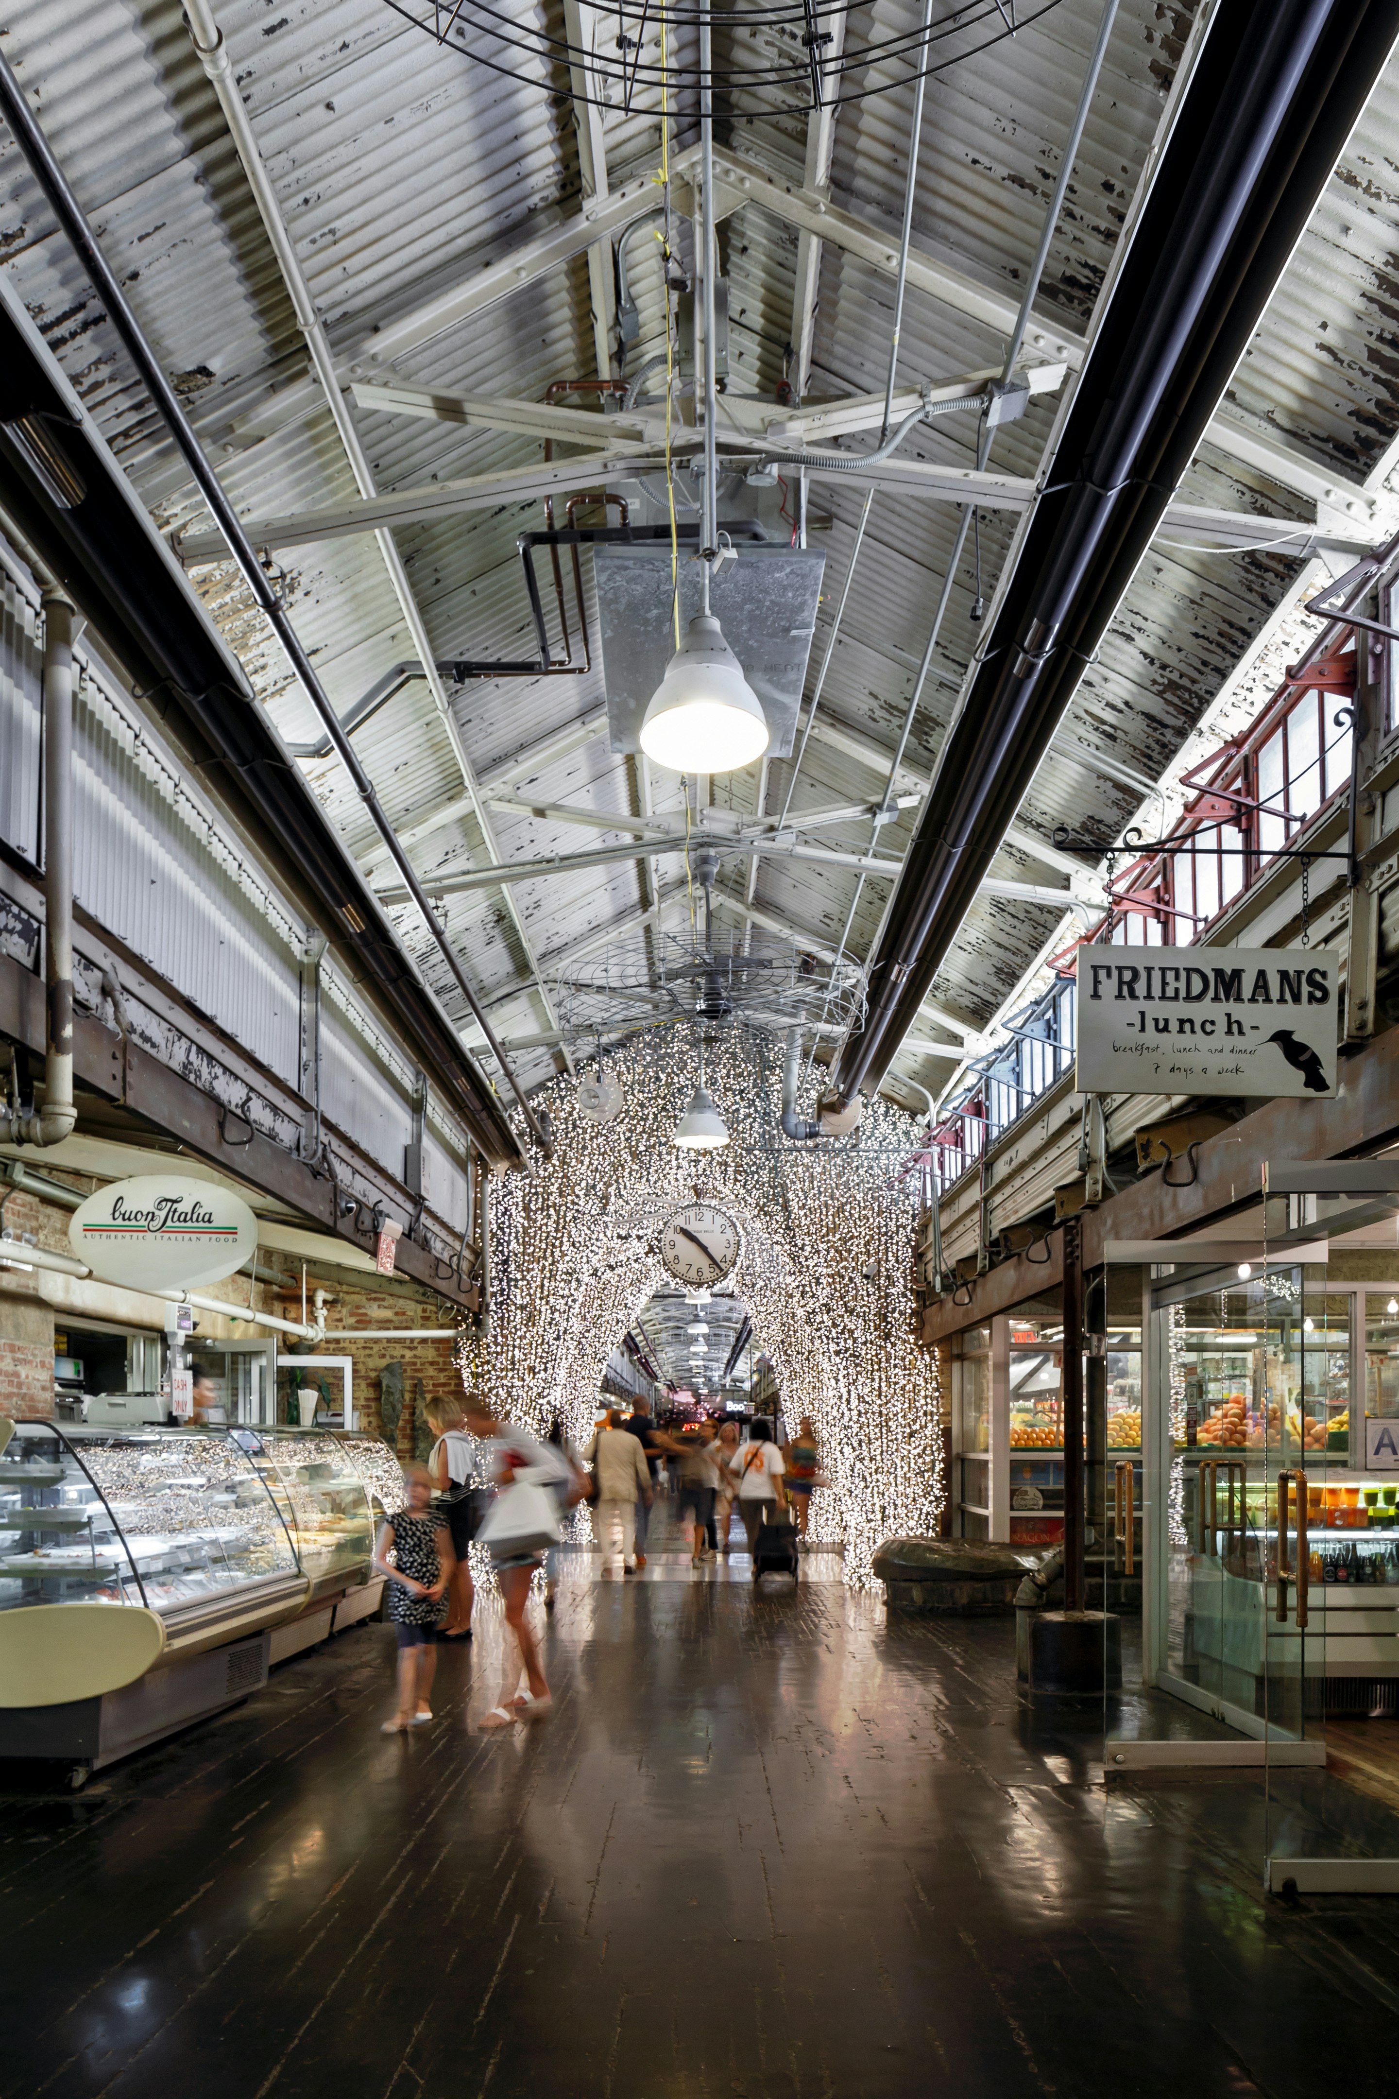
[[579,1110],[571,1079],[539,1091],[554,1159],[491,1182],[491,1322],[466,1337],[461,1377],[537,1434],[558,1415],[581,1446],[608,1356],[646,1301],[675,1287],[661,1226],[703,1190],[740,1226],[719,1289],[749,1310],[784,1425],[816,1423],[828,1486],[814,1494],[810,1536],[843,1543],[845,1581],[868,1587],[881,1541],[935,1530],[944,1503],[938,1362],[917,1341],[912,1295],[919,1182],[898,1173],[917,1123],[877,1102],[854,1138],[791,1144],[761,1037],[709,1039],[705,1066],[732,1144],[703,1159],[671,1142],[694,1087],[686,1024],[608,1054],[625,1096],[610,1123]]

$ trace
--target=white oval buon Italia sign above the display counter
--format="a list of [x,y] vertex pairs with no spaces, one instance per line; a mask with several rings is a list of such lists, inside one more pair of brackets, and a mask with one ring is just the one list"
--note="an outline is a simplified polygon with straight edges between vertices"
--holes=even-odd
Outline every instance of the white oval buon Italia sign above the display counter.
[[103,1282],[128,1291],[189,1291],[222,1282],[258,1245],[241,1196],[174,1173],[99,1188],[73,1211],[69,1245]]

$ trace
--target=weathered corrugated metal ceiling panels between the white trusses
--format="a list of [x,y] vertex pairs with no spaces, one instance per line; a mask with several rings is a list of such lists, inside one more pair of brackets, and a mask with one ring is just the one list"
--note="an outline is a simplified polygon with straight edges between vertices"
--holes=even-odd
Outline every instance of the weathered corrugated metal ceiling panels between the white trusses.
[[[262,0],[218,0],[216,13],[302,269],[338,348],[359,346],[375,321],[417,304],[443,283],[470,279],[480,264],[577,208],[579,151],[566,107],[472,65],[459,50],[434,46],[384,0],[283,0],[277,8]],[[1040,294],[1040,309],[1076,332],[1091,321],[1191,17],[1189,4],[1158,0],[1126,0],[1120,8]],[[852,44],[906,29],[912,19],[912,6],[877,0],[852,10]],[[1011,296],[1024,283],[1057,176],[1097,19],[1099,0],[1061,0],[1015,38],[929,82],[917,239]],[[761,40],[736,36],[728,23],[719,23],[717,44],[722,63],[749,76],[768,63]],[[143,327],[166,367],[180,376],[189,409],[237,506],[250,516],[266,516],[352,500],[354,483],[329,416],[300,386],[304,344],[178,0],[141,6],[134,0],[17,0],[6,50],[38,99],[80,202],[124,271]],[[875,65],[866,84],[883,86],[889,78],[887,65]],[[745,155],[791,181],[801,168],[805,120],[784,113],[780,101],[772,88],[734,84],[722,130]],[[908,109],[904,86],[847,103],[835,124],[833,195],[889,237],[902,212]],[[690,136],[686,103],[677,143]],[[604,139],[615,183],[654,166],[652,115],[612,109]],[[1231,390],[1237,420],[1355,479],[1372,470],[1399,432],[1395,141],[1399,73],[1391,71]],[[48,231],[8,141],[0,143],[0,185],[4,256],[21,296],[162,523],[201,529],[208,521],[172,447],[71,254]],[[688,254],[686,229],[677,229],[677,246]],[[642,336],[629,372],[661,344],[659,275],[648,250],[648,239],[631,243]],[[730,277],[732,386],[772,395],[793,334],[795,231],[749,202],[726,222],[722,254]],[[826,246],[812,397],[883,384],[889,313],[889,279]],[[992,330],[910,290],[904,382],[954,378],[994,363],[998,353]],[[392,376],[436,390],[539,399],[554,380],[591,369],[587,269],[577,256],[405,355]],[[298,386],[287,395],[294,411],[279,422],[277,397]],[[998,434],[992,464],[1034,474],[1053,416],[1055,401],[1036,399],[1019,424]],[[539,458],[539,445],[522,437],[369,411],[357,418],[384,489]],[[923,428],[906,455],[969,464],[973,445],[971,418],[946,418]],[[1210,447],[1185,493],[1214,508],[1300,514],[1294,497]],[[854,483],[812,489],[812,521],[826,527],[814,544],[828,556],[812,665],[824,655],[860,506],[862,491]],[[520,529],[539,523],[537,504],[505,504],[399,533],[440,657],[520,655],[531,646],[514,542]],[[847,749],[812,739],[793,810],[879,793],[879,754],[891,754],[898,741],[954,531],[956,512],[946,504],[904,495],[875,500],[822,695],[822,716],[862,737],[875,758],[862,764]],[[984,514],[988,596],[1009,531],[1005,514]],[[411,655],[375,542],[340,537],[300,546],[283,556],[283,571],[298,632],[344,712]],[[1105,749],[1137,772],[1160,772],[1292,573],[1294,565],[1279,554],[1154,548],[1084,680],[1066,724],[1068,739],[1086,751]],[[289,741],[315,741],[308,707],[231,571],[199,571],[199,588],[239,646],[281,733]],[[923,775],[931,770],[977,640],[973,588],[969,550],[908,743],[908,764]],[[474,682],[453,695],[466,747],[482,775],[596,712],[602,699],[600,667],[581,678]],[[461,777],[422,680],[409,682],[365,722],[357,747],[403,823],[461,804]],[[354,850],[369,858],[375,838],[338,764],[308,764]],[[768,768],[768,810],[782,806],[789,777],[789,764]],[[673,779],[657,777],[652,785],[657,806],[680,808]],[[751,768],[715,781],[713,793],[722,806],[751,810],[757,787],[757,768]],[[610,756],[602,739],[543,764],[531,793],[615,812],[642,806],[636,764]],[[1059,751],[1042,766],[1021,825],[1049,833],[1055,823],[1070,821],[1107,838],[1135,802],[1133,789],[1103,777],[1082,756]],[[881,850],[908,840],[912,817],[904,812],[898,825],[883,829]],[[493,812],[493,823],[503,856],[579,850],[606,838],[501,810]],[[858,850],[868,829],[849,823],[822,831],[820,840]],[[489,852],[476,821],[457,810],[424,838],[417,856],[426,873],[443,873],[480,865]],[[669,909],[680,911],[680,861],[659,865],[673,898]],[[1017,852],[1003,854],[998,871],[1032,882],[1061,879]],[[728,861],[722,882],[730,894],[747,896],[749,861]],[[755,905],[833,940],[845,924],[854,882],[845,869],[768,861],[759,865]],[[885,894],[887,884],[864,886],[852,928],[856,951],[873,938]],[[650,890],[644,865],[627,861],[520,884],[516,900],[535,949],[558,957],[606,924],[638,913]],[[499,890],[451,896],[445,911],[497,1024],[516,1035],[541,1033],[547,1016],[529,989],[520,940]],[[982,900],[935,987],[935,1001],[973,1022],[986,1020],[1019,982],[1053,924],[1051,909]],[[440,968],[407,913],[405,934],[438,982]],[[917,1058],[904,1064],[929,1081],[938,1075],[938,1066],[925,1068]],[[520,1068],[526,1081],[541,1079],[554,1068],[554,1056],[547,1047],[524,1052]]]

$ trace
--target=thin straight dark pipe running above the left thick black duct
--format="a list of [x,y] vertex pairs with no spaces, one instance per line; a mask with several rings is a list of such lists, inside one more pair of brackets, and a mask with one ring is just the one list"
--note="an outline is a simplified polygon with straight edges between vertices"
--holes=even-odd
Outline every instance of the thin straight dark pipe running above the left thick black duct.
[[[501,1045],[499,1045],[499,1041],[495,1037],[495,1029],[491,1026],[491,1020],[489,1020],[485,1008],[480,1005],[480,999],[476,997],[476,993],[472,989],[472,982],[470,982],[466,970],[461,968],[461,961],[457,959],[457,953],[455,953],[451,940],[447,938],[447,934],[443,932],[443,928],[436,921],[432,905],[428,903],[428,894],[426,894],[422,882],[417,879],[417,869],[413,867],[411,858],[407,856],[405,848],[401,846],[399,833],[394,831],[392,823],[388,821],[388,817],[384,812],[384,806],[380,804],[380,798],[378,798],[378,793],[373,789],[373,781],[369,779],[369,775],[365,772],[363,764],[359,762],[354,745],[344,735],[344,730],[340,726],[340,718],[336,716],[336,709],[331,707],[329,697],[327,697],[325,688],[321,686],[321,680],[317,678],[317,674],[315,674],[315,670],[310,665],[310,657],[302,649],[300,638],[296,634],[296,628],[292,626],[292,621],[287,619],[287,615],[285,615],[285,611],[281,607],[281,600],[277,596],[273,579],[268,575],[264,575],[262,565],[260,565],[260,560],[258,560],[258,556],[254,552],[254,546],[252,546],[252,542],[247,537],[247,533],[243,531],[243,527],[241,527],[241,523],[237,518],[237,512],[233,510],[233,504],[224,495],[224,489],[222,489],[222,483],[218,481],[218,474],[214,472],[214,468],[206,460],[203,449],[199,445],[199,439],[195,437],[195,432],[193,432],[193,428],[191,428],[191,424],[189,424],[189,420],[185,416],[185,409],[180,407],[180,401],[178,401],[178,397],[176,397],[170,380],[166,378],[166,372],[164,372],[159,359],[153,355],[149,342],[145,340],[145,336],[143,336],[143,332],[141,332],[141,327],[136,323],[134,313],[126,304],[126,296],[122,292],[122,285],[117,283],[115,273],[109,269],[107,258],[105,258],[105,254],[103,254],[103,250],[101,250],[101,246],[96,241],[96,235],[92,233],[92,227],[88,225],[88,220],[86,220],[86,216],[84,216],[84,212],[82,212],[82,208],[80,208],[73,191],[69,189],[67,176],[63,174],[63,170],[59,168],[59,162],[55,160],[52,149],[48,145],[48,139],[40,130],[40,126],[38,126],[38,122],[34,118],[34,111],[29,109],[29,103],[25,101],[23,88],[19,86],[19,80],[15,78],[15,71],[10,69],[8,59],[4,59],[2,55],[0,55],[0,113],[4,115],[4,122],[8,124],[13,136],[15,136],[15,143],[23,151],[23,155],[25,155],[25,160],[29,164],[29,170],[31,170],[36,183],[44,191],[44,197],[48,199],[48,208],[52,210],[55,218],[59,220],[59,227],[61,227],[63,235],[67,237],[67,241],[76,250],[78,260],[82,262],[84,271],[92,279],[96,292],[101,294],[103,304],[107,309],[107,319],[111,321],[113,330],[122,338],[122,346],[126,348],[126,355],[130,357],[132,365],[141,374],[141,382],[145,384],[147,393],[151,395],[151,401],[155,403],[155,407],[162,414],[162,420],[166,422],[170,434],[174,437],[174,443],[176,443],[176,447],[178,447],[185,464],[189,466],[189,472],[193,474],[193,481],[195,481],[199,493],[203,495],[206,504],[210,506],[214,523],[218,525],[220,533],[224,535],[224,542],[229,546],[229,554],[237,563],[237,567],[239,567],[239,571],[243,575],[243,581],[247,584],[247,590],[254,596],[254,602],[266,615],[266,621],[273,628],[273,632],[277,634],[277,640],[281,642],[281,646],[283,646],[283,651],[287,655],[287,661],[292,663],[292,670],[296,672],[298,682],[302,684],[302,688],[304,688],[306,697],[310,699],[310,705],[315,707],[315,712],[321,716],[321,722],[325,724],[325,733],[329,735],[329,739],[331,739],[331,743],[336,747],[336,754],[340,756],[340,762],[344,764],[346,772],[350,775],[350,781],[354,785],[357,796],[365,804],[365,810],[367,810],[369,819],[373,821],[375,831],[380,833],[380,838],[388,846],[388,850],[390,850],[390,854],[392,854],[392,858],[394,858],[394,863],[396,863],[396,867],[399,867],[399,871],[401,871],[401,875],[405,879],[409,896],[417,905],[422,921],[428,928],[428,934],[432,936],[432,942],[440,951],[443,961],[447,963],[447,968],[451,970],[451,976],[453,976],[457,989],[461,991],[461,995],[466,997],[466,1003],[472,1010],[476,1026],[482,1031],[482,1035],[487,1039],[487,1047],[491,1050],[491,1056],[497,1060],[501,1073],[505,1075],[505,1081],[508,1081],[512,1094],[516,1096],[516,1100],[520,1104],[526,1129],[531,1131],[535,1144],[539,1144],[539,1148],[543,1150],[543,1154],[550,1157],[552,1154],[550,1140],[547,1140],[545,1131],[541,1129],[541,1125],[539,1125],[539,1121],[535,1117],[535,1110],[531,1108],[529,1098],[524,1096],[524,1089],[520,1087],[520,1081],[516,1079],[514,1068],[512,1068],[510,1060],[505,1058],[505,1052],[501,1050]],[[430,653],[428,653],[428,663],[432,663],[432,655]]]

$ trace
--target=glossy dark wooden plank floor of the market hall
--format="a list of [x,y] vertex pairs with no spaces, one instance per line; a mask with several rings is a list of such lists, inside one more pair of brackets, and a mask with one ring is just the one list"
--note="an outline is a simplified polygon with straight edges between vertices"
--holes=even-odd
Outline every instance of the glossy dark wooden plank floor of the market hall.
[[[650,1572],[573,1560],[535,1730],[472,1732],[487,1614],[422,1734],[365,1627],[78,1799],[10,1780],[0,2099],[1399,2091],[1399,1897],[1265,1900],[1256,1778],[1103,1790],[1009,1627],[816,1560]],[[1294,1784],[1298,1847],[1363,1820]]]

